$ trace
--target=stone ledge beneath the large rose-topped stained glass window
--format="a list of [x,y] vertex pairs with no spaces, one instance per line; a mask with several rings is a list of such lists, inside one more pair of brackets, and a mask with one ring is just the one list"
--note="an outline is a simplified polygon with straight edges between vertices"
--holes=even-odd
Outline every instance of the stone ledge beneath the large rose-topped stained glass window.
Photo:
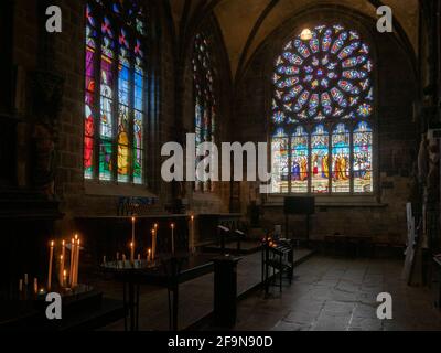
[[[292,196],[292,195],[291,195]],[[263,207],[282,207],[286,195],[270,195]],[[375,195],[341,195],[316,196],[316,207],[387,207],[388,204],[378,202]]]

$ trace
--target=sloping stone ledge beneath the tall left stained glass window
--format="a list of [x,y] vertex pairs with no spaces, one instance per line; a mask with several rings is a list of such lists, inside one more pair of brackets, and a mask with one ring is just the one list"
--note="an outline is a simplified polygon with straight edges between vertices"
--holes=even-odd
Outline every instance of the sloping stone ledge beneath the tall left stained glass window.
[[96,183],[90,181],[85,182],[85,194],[90,196],[158,199],[158,195],[149,192],[142,185]]

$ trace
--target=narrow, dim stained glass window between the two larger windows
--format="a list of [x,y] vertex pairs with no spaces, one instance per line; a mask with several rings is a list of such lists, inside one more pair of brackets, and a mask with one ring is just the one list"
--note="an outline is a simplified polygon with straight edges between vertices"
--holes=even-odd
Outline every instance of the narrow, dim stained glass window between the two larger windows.
[[[203,142],[213,142],[216,131],[216,93],[215,72],[211,41],[204,33],[198,33],[194,41],[193,86],[196,147]],[[196,158],[196,164],[204,157]],[[209,192],[214,184],[211,181],[196,182],[195,190]]]

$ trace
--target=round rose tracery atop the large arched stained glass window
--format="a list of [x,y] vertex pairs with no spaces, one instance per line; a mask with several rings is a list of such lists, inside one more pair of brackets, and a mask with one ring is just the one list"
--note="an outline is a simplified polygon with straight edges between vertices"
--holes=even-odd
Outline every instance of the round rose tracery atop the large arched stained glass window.
[[[357,97],[358,103],[364,104],[372,97],[367,78],[373,65],[367,53],[368,46],[361,41],[359,34],[345,31],[341,25],[316,26],[309,41],[299,35],[284,46],[276,63],[277,108],[286,113],[292,108],[315,120],[331,117],[333,110],[329,100],[325,100],[327,107],[324,109],[311,108],[315,106],[314,94],[318,94],[332,97],[343,109],[338,116],[349,116],[354,107],[348,101]],[[302,92],[299,92],[300,87]]]

